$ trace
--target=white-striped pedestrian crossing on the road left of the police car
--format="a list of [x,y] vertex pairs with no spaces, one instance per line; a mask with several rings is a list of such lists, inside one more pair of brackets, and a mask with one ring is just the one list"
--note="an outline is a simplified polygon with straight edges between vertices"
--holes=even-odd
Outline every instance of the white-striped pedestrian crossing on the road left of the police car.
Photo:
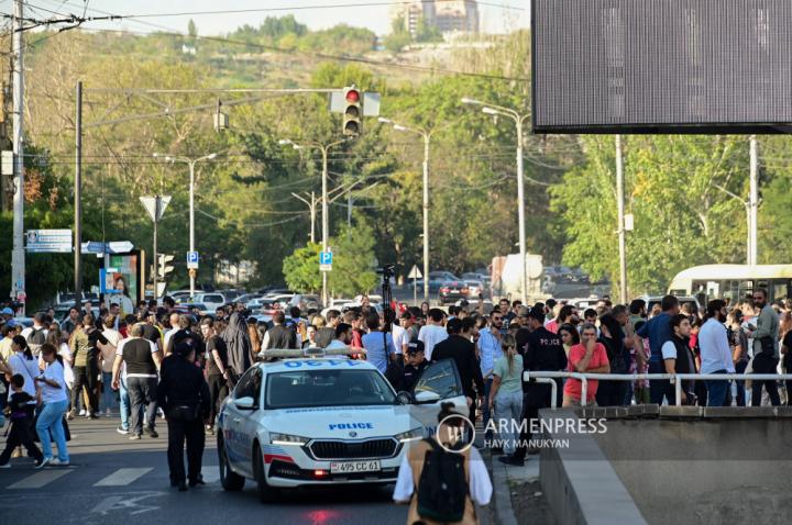
[[[205,465],[201,469],[204,481],[207,484],[217,483],[220,480],[220,471],[217,466]],[[92,485],[96,488],[122,488],[135,485],[167,487],[167,466],[157,467],[124,467],[117,469],[99,469],[92,467],[63,467],[46,468],[32,471],[26,466],[19,469],[4,470],[0,473],[0,488],[9,490],[34,490],[59,487],[74,487],[75,478],[79,478],[79,487]]]

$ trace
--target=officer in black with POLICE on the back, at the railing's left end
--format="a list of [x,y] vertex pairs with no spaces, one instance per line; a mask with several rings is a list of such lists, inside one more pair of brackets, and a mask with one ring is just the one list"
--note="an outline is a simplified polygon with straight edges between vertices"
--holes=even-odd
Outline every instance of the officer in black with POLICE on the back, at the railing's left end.
[[[534,306],[528,312],[528,327],[531,331],[525,349],[522,350],[522,368],[532,371],[561,371],[566,368],[566,354],[561,337],[544,327],[543,310]],[[561,381],[556,380],[558,388],[556,405],[561,405]],[[526,445],[531,438],[530,424],[539,417],[539,409],[550,406],[550,384],[530,381],[522,383],[522,420],[525,432],[520,433],[517,447],[512,456],[498,457],[507,465],[524,465],[527,453]]]

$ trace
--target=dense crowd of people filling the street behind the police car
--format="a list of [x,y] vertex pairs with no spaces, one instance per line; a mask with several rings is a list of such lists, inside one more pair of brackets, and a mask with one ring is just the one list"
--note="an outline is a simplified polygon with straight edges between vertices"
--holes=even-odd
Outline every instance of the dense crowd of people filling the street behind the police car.
[[[3,405],[15,422],[13,439],[0,456],[0,467],[22,454],[43,465],[68,465],[67,421],[85,416],[119,417],[118,433],[130,439],[158,437],[157,418],[165,415],[163,364],[174,354],[189,354],[207,389],[196,406],[206,406],[201,440],[213,433],[222,400],[251,366],[272,348],[360,349],[396,391],[410,391],[431,361],[453,359],[470,406],[482,414],[485,437],[497,431],[505,461],[521,463],[530,435],[493,429],[488,422],[532,420],[551,404],[549,384],[521,379],[524,370],[588,373],[774,373],[792,370],[792,304],[769,304],[756,290],[739,304],[710,301],[704,312],[695,303],[680,304],[668,295],[648,311],[646,302],[613,304],[601,300],[580,312],[552,299],[531,306],[502,300],[492,311],[484,303],[463,302],[447,310],[406,306],[375,308],[365,297],[360,306],[330,309],[324,315],[293,308],[258,323],[242,304],[212,315],[180,312],[170,298],[162,305],[142,302],[133,312],[108,304],[95,317],[90,306],[73,308],[57,322],[36,313],[33,326],[18,325],[0,312],[0,372],[7,387]],[[127,306],[130,308],[130,306]],[[386,321],[387,317],[387,321]],[[185,343],[186,342],[186,343]],[[177,346],[183,351],[175,351]],[[185,345],[187,345],[185,347]],[[186,348],[186,349],[185,349]],[[183,356],[185,357],[185,356]],[[782,366],[779,366],[779,365]],[[557,404],[582,404],[582,384],[559,380]],[[792,382],[779,390],[776,381],[682,381],[682,404],[760,405],[763,395],[778,405],[792,401]],[[586,404],[675,403],[670,380],[587,381]],[[35,421],[35,422],[34,422]],[[184,433],[183,433],[184,434]],[[38,438],[42,451],[34,443]],[[51,440],[58,448],[53,456]],[[184,469],[183,469],[184,470]],[[179,474],[184,478],[183,474]],[[190,481],[196,481],[190,479]]]

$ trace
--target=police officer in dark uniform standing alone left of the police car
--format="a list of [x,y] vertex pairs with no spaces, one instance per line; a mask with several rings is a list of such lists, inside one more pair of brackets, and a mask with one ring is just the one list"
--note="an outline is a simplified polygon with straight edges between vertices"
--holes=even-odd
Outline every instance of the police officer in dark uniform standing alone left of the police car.
[[[210,409],[209,387],[195,364],[199,344],[185,333],[174,334],[173,354],[163,359],[157,401],[165,411],[168,425],[168,468],[170,487],[179,492],[189,485],[205,484],[201,477],[204,456],[204,424]],[[187,477],[184,467],[184,446],[187,440]]]

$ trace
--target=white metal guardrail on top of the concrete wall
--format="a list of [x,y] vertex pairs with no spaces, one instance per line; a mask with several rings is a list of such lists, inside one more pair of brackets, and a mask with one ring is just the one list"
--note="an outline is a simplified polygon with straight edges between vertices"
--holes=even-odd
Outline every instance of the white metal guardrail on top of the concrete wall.
[[751,381],[790,381],[792,373],[594,373],[594,372],[552,372],[552,371],[530,371],[522,372],[522,381],[528,382],[534,379],[540,383],[551,384],[552,400],[551,409],[557,407],[558,386],[553,379],[572,378],[581,381],[581,405],[586,405],[586,396],[588,393],[588,380],[596,381],[636,381],[636,380],[657,380],[668,379],[674,386],[674,398],[676,406],[682,406],[682,381],[734,381],[734,380],[751,380]]

